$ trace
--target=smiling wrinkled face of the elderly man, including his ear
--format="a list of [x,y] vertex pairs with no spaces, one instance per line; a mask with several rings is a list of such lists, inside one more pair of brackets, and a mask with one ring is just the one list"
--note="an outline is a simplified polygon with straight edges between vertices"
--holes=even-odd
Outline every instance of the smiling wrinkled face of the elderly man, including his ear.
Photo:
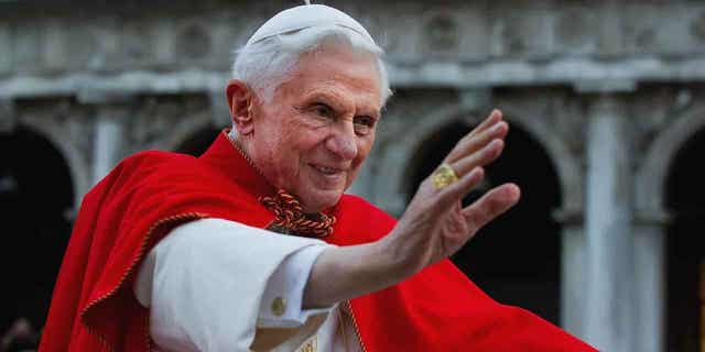
[[380,97],[371,54],[328,47],[307,54],[271,103],[253,107],[250,157],[304,211],[332,207],[372,147]]

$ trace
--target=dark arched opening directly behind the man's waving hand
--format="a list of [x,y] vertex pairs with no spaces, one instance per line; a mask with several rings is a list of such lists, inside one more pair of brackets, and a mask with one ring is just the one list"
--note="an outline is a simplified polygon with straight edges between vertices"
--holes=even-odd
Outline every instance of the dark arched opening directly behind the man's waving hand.
[[[412,165],[408,166],[409,193],[415,190],[470,129],[469,122],[454,120],[434,131],[420,145],[410,161]],[[525,167],[527,161],[531,161],[533,167]],[[465,197],[464,205],[507,182],[514,182],[523,189],[522,201],[500,221],[485,227],[453,255],[453,261],[495,299],[528,308],[544,319],[558,322],[562,228],[552,215],[561,207],[562,196],[554,164],[540,142],[521,124],[514,123],[502,157],[486,167],[485,180]],[[527,230],[529,235],[523,233]]]

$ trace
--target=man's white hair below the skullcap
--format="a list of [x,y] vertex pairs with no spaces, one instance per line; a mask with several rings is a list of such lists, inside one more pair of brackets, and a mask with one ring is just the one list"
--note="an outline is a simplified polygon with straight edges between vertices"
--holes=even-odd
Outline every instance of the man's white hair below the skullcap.
[[343,45],[375,55],[383,107],[392,95],[382,61],[383,50],[359,33],[338,25],[307,28],[243,46],[235,52],[232,78],[246,82],[264,102],[271,102],[274,90],[289,79],[299,59],[324,45]]

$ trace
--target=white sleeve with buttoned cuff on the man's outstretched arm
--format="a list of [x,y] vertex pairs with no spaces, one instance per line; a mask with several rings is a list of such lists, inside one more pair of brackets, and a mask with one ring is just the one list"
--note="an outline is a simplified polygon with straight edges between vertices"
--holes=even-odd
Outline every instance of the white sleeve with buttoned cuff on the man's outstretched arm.
[[[197,220],[158,243],[140,266],[133,289],[140,304],[150,307],[150,333],[158,345],[248,351],[258,323],[271,324],[271,318],[280,316],[284,318],[279,323],[294,324],[315,312],[301,310],[311,266],[306,271],[281,264],[289,258],[313,265],[325,245],[228,220]],[[273,275],[288,273],[303,273],[303,278],[270,285]],[[293,307],[296,300],[299,307]],[[263,316],[262,308],[273,316]]]

